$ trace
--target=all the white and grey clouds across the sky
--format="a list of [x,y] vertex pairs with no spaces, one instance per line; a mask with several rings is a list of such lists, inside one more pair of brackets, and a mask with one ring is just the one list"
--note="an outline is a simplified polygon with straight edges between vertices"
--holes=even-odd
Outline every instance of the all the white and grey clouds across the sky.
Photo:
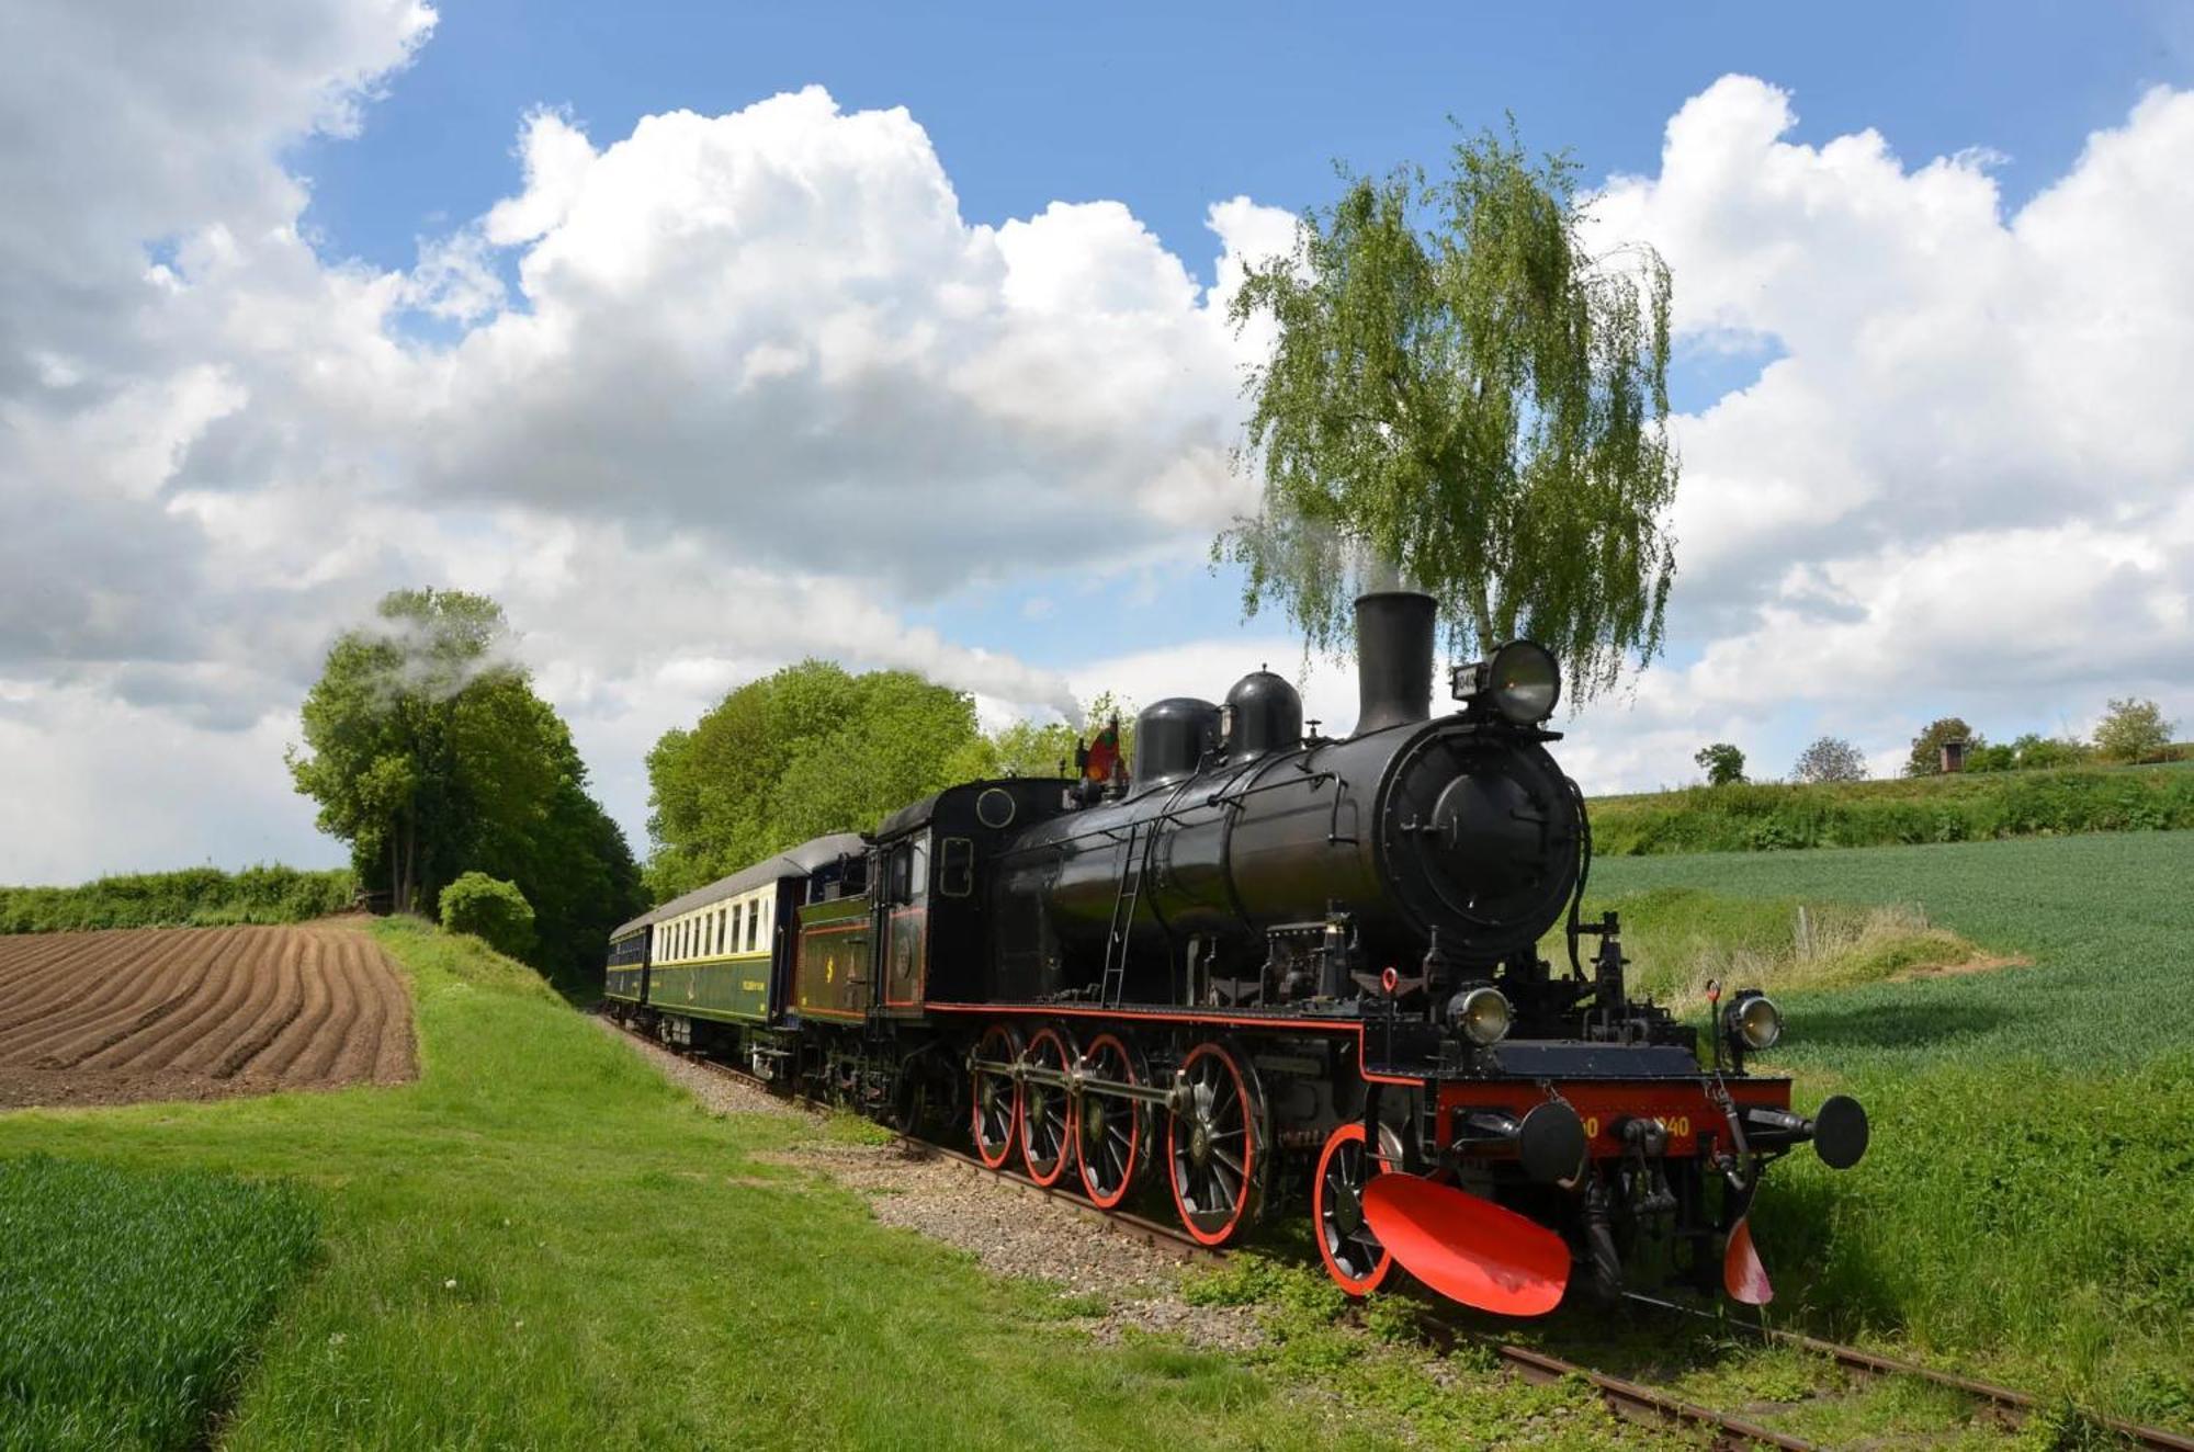
[[[432,22],[9,13],[0,739],[37,790],[0,880],[193,840],[307,855],[279,746],[331,634],[404,583],[507,605],[632,825],[654,737],[803,654],[921,669],[985,719],[1294,673],[1268,623],[1079,665],[911,614],[1178,568],[1253,504],[1226,458],[1266,338],[1224,314],[1288,213],[1213,204],[1202,287],[1112,200],[963,217],[917,118],[810,88],[630,136],[538,110],[509,195],[412,268],[323,254],[283,147],[371,125]],[[1694,347],[1777,360],[1678,421],[1685,665],[1580,722],[1569,761],[1681,779],[1771,702],[1885,750],[1915,678],[2150,687],[2185,715],[2194,97],[2148,97],[2014,215],[1981,156],[1792,127],[1788,94],[1724,79],[1659,175],[1602,197],[1610,237],[1667,252]],[[1354,717],[1345,669],[1305,684]],[[127,783],[94,770],[123,757]]]

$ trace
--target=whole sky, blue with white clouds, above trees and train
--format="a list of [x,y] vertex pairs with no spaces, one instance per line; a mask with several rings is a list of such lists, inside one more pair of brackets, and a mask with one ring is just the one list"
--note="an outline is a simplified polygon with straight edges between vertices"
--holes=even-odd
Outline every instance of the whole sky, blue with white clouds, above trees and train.
[[1564,719],[1588,790],[2194,717],[2194,7],[11,26],[0,882],[340,858],[279,763],[395,586],[509,608],[636,847],[647,746],[807,654],[987,719],[1294,669],[1205,566],[1231,279],[1450,116],[1676,274],[1670,643]]

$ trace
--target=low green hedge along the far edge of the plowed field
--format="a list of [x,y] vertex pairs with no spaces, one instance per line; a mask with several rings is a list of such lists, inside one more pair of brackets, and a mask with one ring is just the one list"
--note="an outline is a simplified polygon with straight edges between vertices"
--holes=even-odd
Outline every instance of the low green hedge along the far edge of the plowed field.
[[191,866],[101,877],[75,888],[0,888],[0,932],[303,923],[342,912],[355,893],[358,880],[349,869],[246,866],[224,873]]

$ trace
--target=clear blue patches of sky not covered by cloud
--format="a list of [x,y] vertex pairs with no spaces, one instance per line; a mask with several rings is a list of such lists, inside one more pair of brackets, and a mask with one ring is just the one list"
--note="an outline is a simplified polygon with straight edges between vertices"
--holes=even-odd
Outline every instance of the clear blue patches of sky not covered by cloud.
[[[845,110],[911,110],[970,222],[1115,197],[1209,283],[1205,211],[1218,197],[1319,204],[1336,160],[1365,171],[1435,162],[1455,123],[1499,127],[1509,114],[1527,145],[1571,149],[1588,182],[1652,171],[1667,116],[1727,72],[1795,92],[1797,140],[1871,127],[1909,160],[1994,151],[2003,202],[2018,206],[2141,90],[2183,83],[2190,35],[2194,24],[2165,4],[1854,4],[1834,22],[1760,4],[1652,15],[1437,4],[1378,24],[1325,4],[1130,4],[1104,15],[450,4],[364,134],[314,138],[296,167],[314,182],[305,219],[327,254],[404,268],[421,237],[509,195],[511,136],[533,107],[568,110],[612,138],[647,114],[731,112],[821,83]],[[1674,406],[1711,404],[1773,355],[1683,349]],[[970,645],[1066,665],[1112,654],[1121,638],[1207,634],[1235,601],[1231,572],[1167,566],[1117,586],[1038,575],[908,614]]]

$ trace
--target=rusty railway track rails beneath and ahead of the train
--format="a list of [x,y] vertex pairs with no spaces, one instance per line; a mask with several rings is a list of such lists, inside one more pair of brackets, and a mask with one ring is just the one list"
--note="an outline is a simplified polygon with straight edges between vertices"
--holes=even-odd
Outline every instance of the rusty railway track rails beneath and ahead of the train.
[[[623,1024],[619,1024],[619,1029],[623,1029]],[[632,1029],[623,1031],[643,1044],[667,1048],[665,1044],[658,1044],[656,1040],[634,1033]],[[733,1079],[766,1094],[792,1099],[792,1103],[799,1103],[818,1114],[832,1108],[827,1103],[805,1099],[799,1094],[781,1094],[779,1086],[757,1075],[750,1075],[742,1068],[733,1068],[731,1064],[722,1064],[717,1059],[709,1059],[698,1053],[685,1053],[676,1048],[667,1051],[678,1053],[678,1057],[700,1066],[706,1073],[722,1075],[724,1079]],[[985,1176],[989,1180],[996,1180],[1000,1187],[1011,1189],[1016,1193],[1049,1200],[1075,1215],[1090,1220],[1093,1224],[1101,1224],[1108,1233],[1132,1237],[1139,1244],[1145,1244],[1154,1250],[1163,1250],[1183,1261],[1200,1261],[1200,1263],[1226,1261],[1226,1250],[1202,1246],[1189,1235],[1180,1233],[1178,1228],[1161,1224],[1156,1220],[1147,1220],[1143,1215],[1130,1215],[1123,1211],[1101,1211],[1095,1204],[1090,1204],[1084,1195],[1064,1189],[1064,1184],[1044,1187],[1016,1169],[992,1169],[972,1154],[961,1154],[959,1149],[950,1149],[935,1141],[917,1138],[911,1134],[900,1134],[897,1145],[902,1147],[902,1152],[913,1154],[917,1158],[957,1165],[972,1176]],[[1880,1355],[1876,1351],[1863,1351],[1858,1347],[1845,1347],[1839,1342],[1819,1340],[1814,1336],[1803,1336],[1799,1331],[1784,1331],[1779,1327],[1760,1325],[1755,1320],[1744,1320],[1738,1316],[1711,1316],[1707,1312],[1678,1305],[1674,1301],[1661,1301],[1656,1296],[1646,1296],[1637,1292],[1628,1292],[1626,1298],[1632,1305],[1643,1305],[1674,1316],[1705,1320],[1724,1329],[1740,1329],[1751,1336],[1757,1336],[1764,1342],[1812,1351],[1847,1371],[1856,1371],[1863,1375],[1907,1375],[1907,1377],[1918,1377],[1922,1382],[1931,1382],[1935,1386],[1959,1391],[1972,1397],[1975,1402],[1990,1406],[2008,1423],[2018,1423],[2029,1415],[2034,1415],[2036,1410],[2040,1410],[2043,1406],[2043,1402],[2029,1393],[2010,1386],[1997,1386],[1992,1382],[1979,1382],[1948,1371],[1937,1371],[1933,1366],[1922,1366],[1920,1362],[1907,1362],[1893,1355]],[[1564,1360],[1549,1351],[1520,1347],[1499,1336],[1488,1336],[1485,1331],[1457,1325],[1455,1320],[1448,1318],[1430,1318],[1422,1325],[1426,1336],[1435,1345],[1441,1345],[1441,1349],[1452,1349],[1455,1345],[1472,1342],[1477,1347],[1492,1351],[1505,1369],[1509,1369],[1514,1375],[1527,1382],[1560,1382],[1562,1377],[1580,1377],[1586,1384],[1591,1384],[1593,1391],[1599,1393],[1608,1410],[1613,1410],[1617,1417],[1624,1417],[1626,1421],[1694,1428],[1705,1432],[1709,1437],[1709,1445],[1714,1448],[1729,1448],[1729,1450],[1779,1448],[1782,1452],[1823,1452],[1823,1443],[1806,1441],[1803,1437],[1792,1437],[1788,1432],[1777,1432],[1775,1428],[1762,1426],[1735,1413],[1724,1413],[1711,1406],[1703,1406],[1698,1402],[1689,1402],[1663,1388],[1648,1386],[1643,1382],[1630,1382],[1626,1377],[1617,1377],[1606,1371],[1597,1371],[1593,1366]],[[2100,1428],[2106,1428],[2115,1437],[2122,1437],[2130,1448],[2144,1448],[2155,1452],[2194,1452],[2194,1437],[2181,1432],[2139,1426],[2133,1421],[2119,1421],[2113,1417],[2089,1415],[2089,1421],[2093,1421]]]

